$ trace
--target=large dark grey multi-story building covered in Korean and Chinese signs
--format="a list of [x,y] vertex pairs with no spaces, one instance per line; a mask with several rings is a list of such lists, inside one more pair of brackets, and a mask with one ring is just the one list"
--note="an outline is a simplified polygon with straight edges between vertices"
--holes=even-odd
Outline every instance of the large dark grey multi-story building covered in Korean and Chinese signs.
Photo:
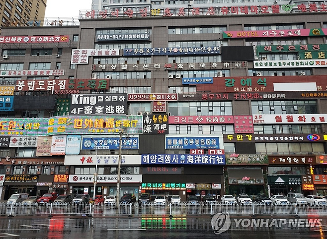
[[94,178],[103,195],[326,194],[326,10],[90,10],[3,29],[1,198],[93,193]]

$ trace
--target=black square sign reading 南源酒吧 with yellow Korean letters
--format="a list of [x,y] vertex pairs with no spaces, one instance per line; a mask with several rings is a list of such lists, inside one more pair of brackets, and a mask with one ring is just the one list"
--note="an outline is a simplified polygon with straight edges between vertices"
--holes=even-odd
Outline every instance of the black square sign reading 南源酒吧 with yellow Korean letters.
[[168,134],[168,115],[143,115],[143,134]]

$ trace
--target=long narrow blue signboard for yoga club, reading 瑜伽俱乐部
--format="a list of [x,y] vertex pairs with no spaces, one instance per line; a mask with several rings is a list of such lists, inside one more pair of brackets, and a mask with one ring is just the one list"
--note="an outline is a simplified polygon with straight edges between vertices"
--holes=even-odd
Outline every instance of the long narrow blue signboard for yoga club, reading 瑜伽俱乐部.
[[220,54],[219,47],[125,48],[123,56],[206,55]]

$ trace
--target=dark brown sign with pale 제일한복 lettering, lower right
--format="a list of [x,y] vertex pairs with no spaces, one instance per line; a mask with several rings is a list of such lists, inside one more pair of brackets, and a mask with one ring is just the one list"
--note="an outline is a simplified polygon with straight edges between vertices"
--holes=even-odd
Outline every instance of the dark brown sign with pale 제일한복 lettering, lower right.
[[269,165],[315,164],[316,156],[310,155],[268,155]]

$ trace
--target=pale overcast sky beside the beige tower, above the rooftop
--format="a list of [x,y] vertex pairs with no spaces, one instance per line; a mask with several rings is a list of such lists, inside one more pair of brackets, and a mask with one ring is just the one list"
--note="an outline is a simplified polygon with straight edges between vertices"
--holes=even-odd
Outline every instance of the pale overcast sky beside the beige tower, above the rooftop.
[[47,0],[45,18],[76,18],[80,10],[90,10],[92,0]]

